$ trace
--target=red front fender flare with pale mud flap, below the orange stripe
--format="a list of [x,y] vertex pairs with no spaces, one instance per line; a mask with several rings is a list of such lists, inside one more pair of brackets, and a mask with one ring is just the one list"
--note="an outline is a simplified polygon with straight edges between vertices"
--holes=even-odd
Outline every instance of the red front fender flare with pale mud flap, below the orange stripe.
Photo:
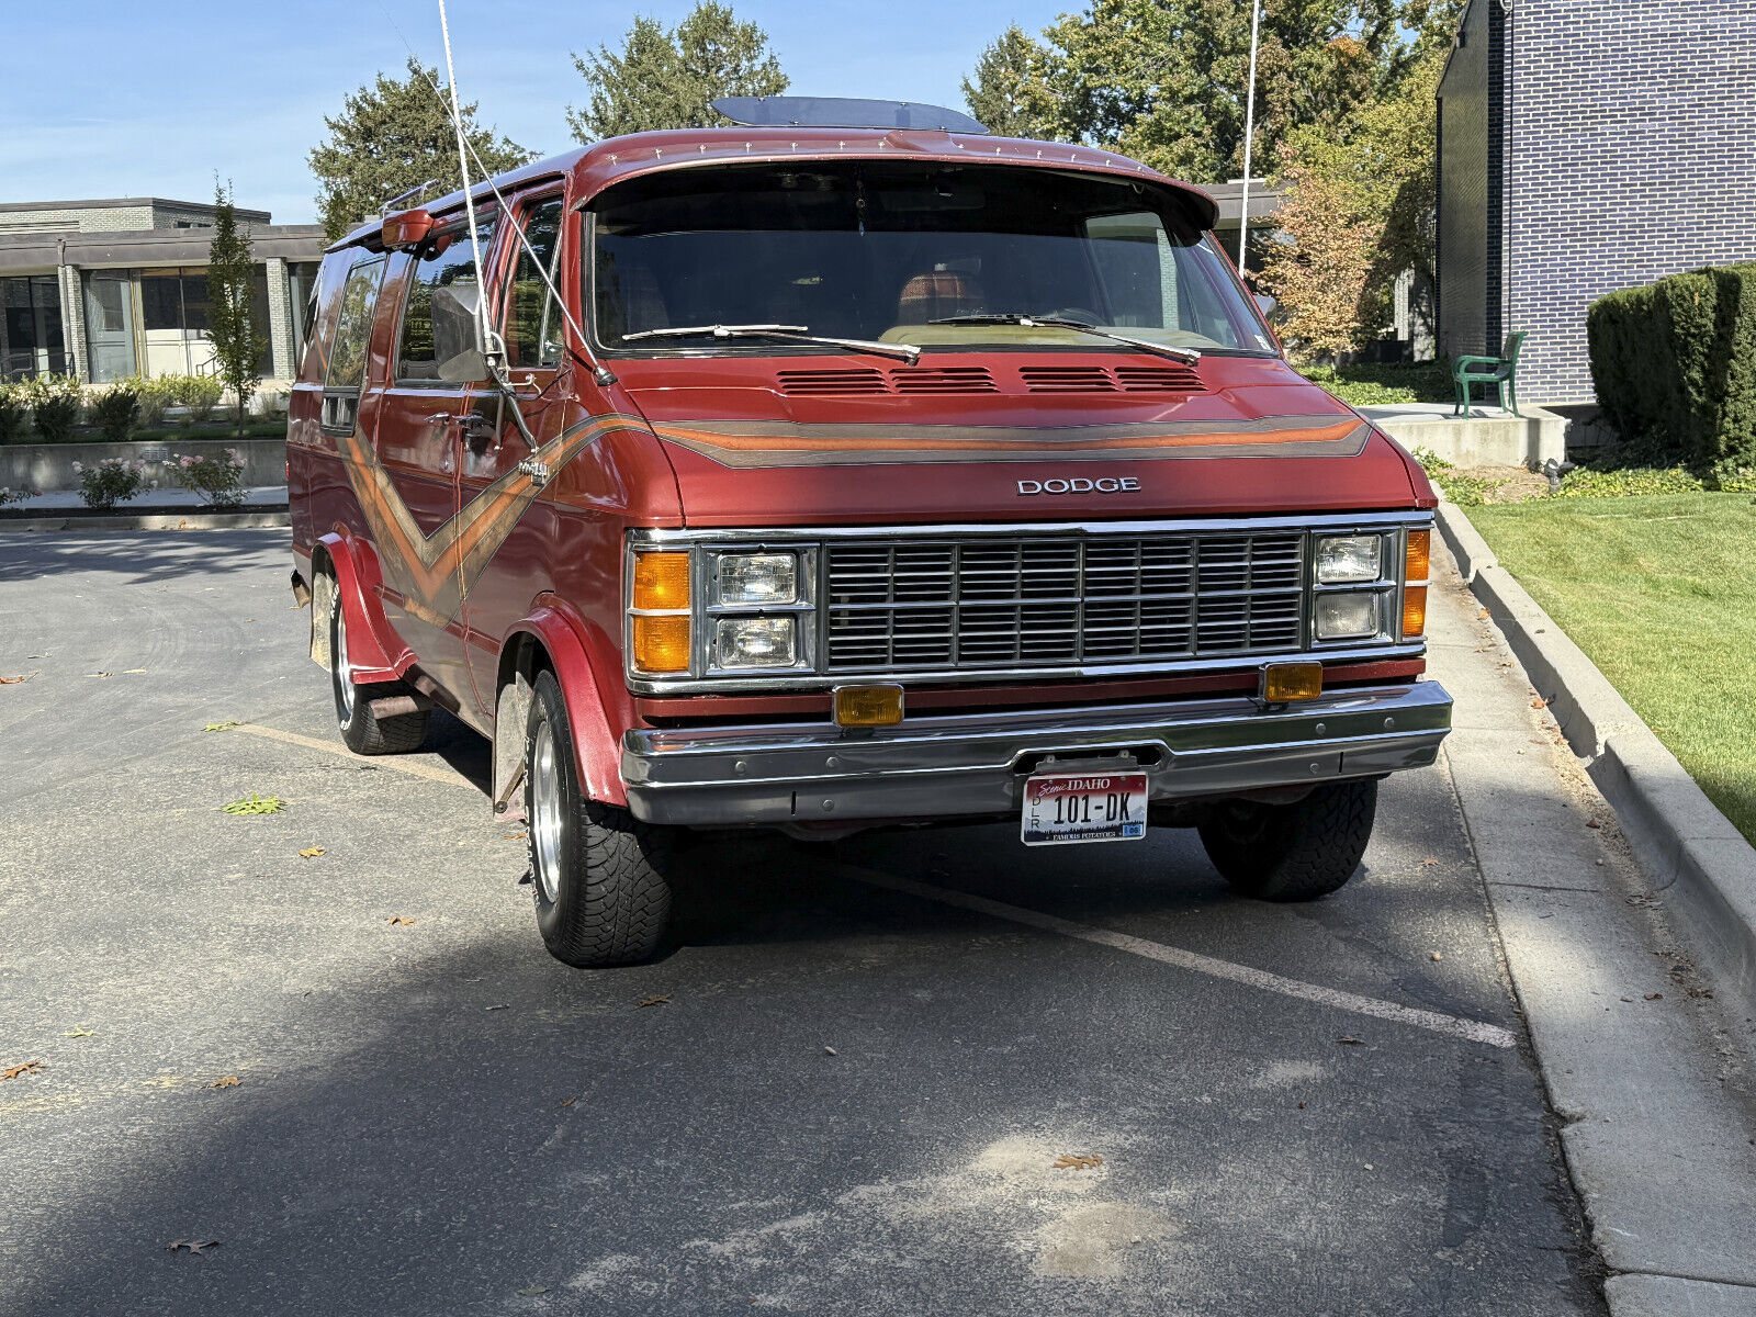
[[513,625],[500,643],[493,716],[493,808],[497,818],[515,818],[522,804],[511,799],[525,755],[525,713],[530,708],[536,644],[560,683],[572,725],[574,767],[594,801],[627,808],[622,785],[622,745],[609,725],[597,673],[585,648],[583,623],[553,597]]

